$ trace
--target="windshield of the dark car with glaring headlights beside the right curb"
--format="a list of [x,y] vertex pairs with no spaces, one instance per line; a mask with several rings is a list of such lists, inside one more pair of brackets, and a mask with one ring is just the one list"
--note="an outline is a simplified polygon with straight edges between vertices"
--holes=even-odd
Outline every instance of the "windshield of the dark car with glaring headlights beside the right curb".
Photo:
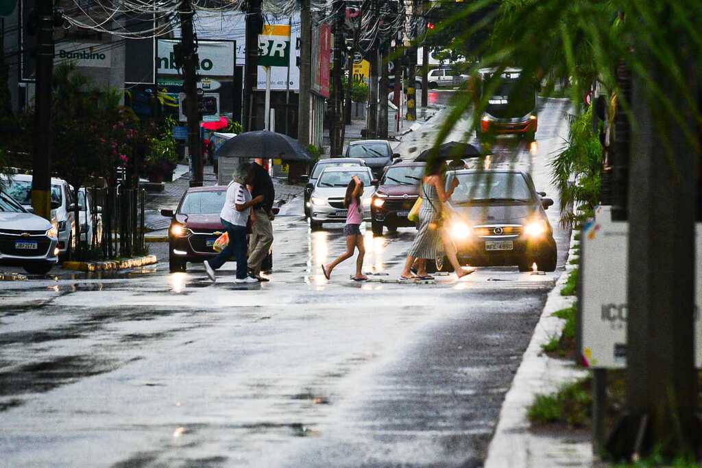
[[[531,190],[524,176],[514,172],[456,174],[458,186],[451,195],[456,203],[531,202]],[[451,178],[452,179],[452,178]],[[448,187],[451,181],[446,182]]]

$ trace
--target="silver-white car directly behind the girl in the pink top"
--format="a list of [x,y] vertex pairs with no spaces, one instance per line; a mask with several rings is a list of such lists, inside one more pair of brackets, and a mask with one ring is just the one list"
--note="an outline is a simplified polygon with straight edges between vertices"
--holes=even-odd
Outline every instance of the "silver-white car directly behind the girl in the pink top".
[[371,219],[371,198],[376,191],[373,174],[369,167],[328,167],[314,186],[310,202],[312,213],[310,227],[319,229],[323,223],[343,223],[346,221],[347,209],[344,207],[346,188],[353,176],[358,176],[364,185],[361,199],[364,221]]

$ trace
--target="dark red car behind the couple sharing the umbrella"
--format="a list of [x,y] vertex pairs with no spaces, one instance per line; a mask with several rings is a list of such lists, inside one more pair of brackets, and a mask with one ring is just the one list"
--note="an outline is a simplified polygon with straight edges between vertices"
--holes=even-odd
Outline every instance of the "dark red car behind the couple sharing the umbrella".
[[[220,212],[227,199],[227,186],[191,187],[183,194],[178,207],[161,209],[161,216],[171,218],[168,226],[168,268],[186,271],[187,262],[202,263],[217,255],[212,246],[225,231]],[[278,208],[273,208],[277,214]],[[263,270],[272,267],[272,252],[263,262]]]

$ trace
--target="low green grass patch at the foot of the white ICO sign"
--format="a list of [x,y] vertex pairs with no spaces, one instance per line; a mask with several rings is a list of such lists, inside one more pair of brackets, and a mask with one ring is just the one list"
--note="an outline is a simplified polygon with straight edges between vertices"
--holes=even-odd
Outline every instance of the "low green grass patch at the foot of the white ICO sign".
[[585,427],[592,414],[590,379],[566,384],[550,395],[537,395],[529,406],[527,417],[536,424],[562,423],[569,427]]

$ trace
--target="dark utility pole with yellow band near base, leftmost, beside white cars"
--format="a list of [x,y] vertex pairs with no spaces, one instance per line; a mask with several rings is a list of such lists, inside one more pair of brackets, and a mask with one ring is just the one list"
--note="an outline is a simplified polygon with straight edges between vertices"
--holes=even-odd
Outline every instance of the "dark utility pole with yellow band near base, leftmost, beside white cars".
[[32,208],[34,214],[51,221],[51,156],[53,152],[53,0],[37,0],[37,84],[34,98],[34,138],[32,155]]

